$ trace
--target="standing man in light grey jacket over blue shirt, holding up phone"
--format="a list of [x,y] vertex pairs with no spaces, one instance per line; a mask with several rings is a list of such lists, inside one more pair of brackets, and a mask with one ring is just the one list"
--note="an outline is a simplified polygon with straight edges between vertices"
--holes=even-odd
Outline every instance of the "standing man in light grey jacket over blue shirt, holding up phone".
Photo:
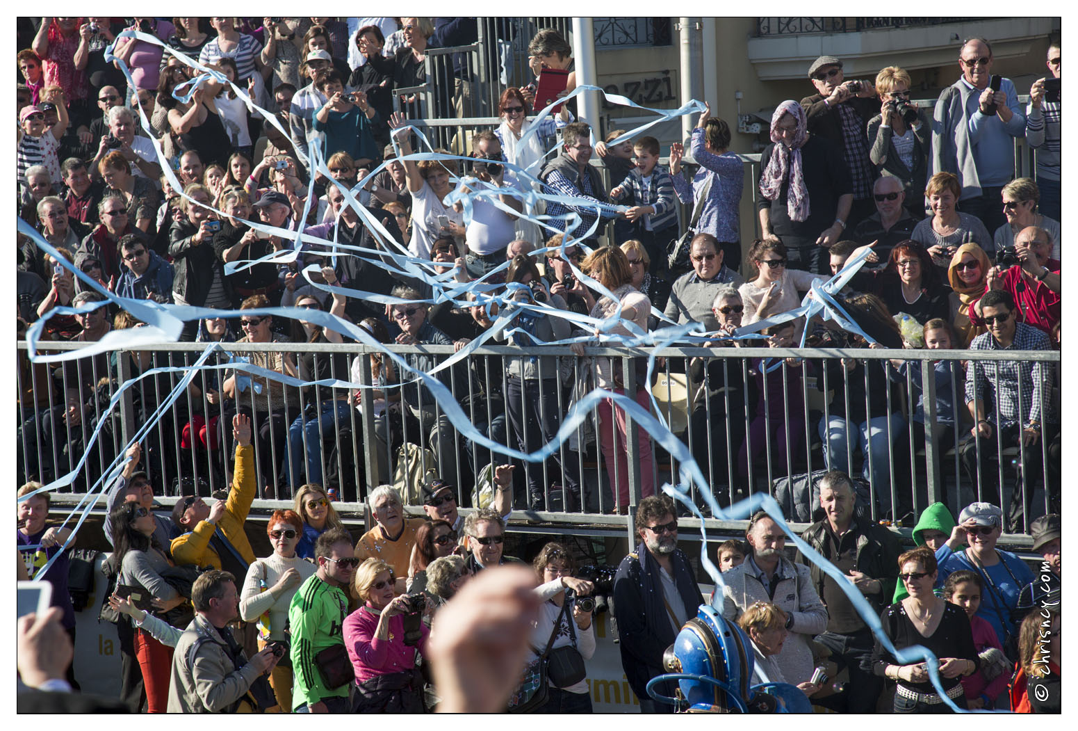
[[962,78],[936,101],[928,177],[958,176],[959,210],[995,231],[1006,223],[1003,190],[1014,177],[1013,138],[1025,134],[1025,116],[1011,80],[992,75],[992,46],[986,40],[966,41],[958,68]]

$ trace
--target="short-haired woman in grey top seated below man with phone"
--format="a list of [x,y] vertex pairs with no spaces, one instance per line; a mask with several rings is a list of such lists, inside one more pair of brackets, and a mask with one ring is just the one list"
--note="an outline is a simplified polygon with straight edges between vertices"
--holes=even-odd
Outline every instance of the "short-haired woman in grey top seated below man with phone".
[[943,268],[963,244],[979,244],[989,257],[996,253],[995,244],[981,219],[957,209],[962,184],[953,173],[937,173],[928,179],[925,197],[932,213],[913,227],[910,238],[932,257],[932,263]]

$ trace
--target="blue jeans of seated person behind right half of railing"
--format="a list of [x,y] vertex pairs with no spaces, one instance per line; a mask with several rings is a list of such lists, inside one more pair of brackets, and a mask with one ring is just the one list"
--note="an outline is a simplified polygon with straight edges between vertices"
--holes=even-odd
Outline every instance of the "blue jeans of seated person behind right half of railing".
[[872,493],[880,501],[880,510],[884,513],[892,507],[888,447],[904,426],[906,419],[899,413],[874,416],[860,424],[854,424],[834,414],[830,416],[830,420],[828,417],[819,420],[819,436],[826,443],[824,452],[827,457],[827,468],[830,470],[848,469],[849,455],[855,449],[854,440],[859,438],[861,456],[865,458],[861,474],[868,480]]

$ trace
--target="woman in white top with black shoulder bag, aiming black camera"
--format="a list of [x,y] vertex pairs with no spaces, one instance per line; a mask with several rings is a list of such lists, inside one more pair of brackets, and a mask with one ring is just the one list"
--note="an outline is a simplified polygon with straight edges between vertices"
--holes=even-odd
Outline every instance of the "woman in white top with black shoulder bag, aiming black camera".
[[[592,593],[591,581],[577,579],[577,563],[572,553],[561,543],[547,543],[531,562],[539,585],[534,590],[543,599],[531,638],[528,642],[527,661],[535,663],[544,649],[556,650],[572,647],[580,653],[580,664],[595,654],[595,627],[592,612],[580,606],[580,597]],[[567,591],[568,590],[568,591]],[[568,602],[568,606],[566,606]],[[555,631],[554,627],[557,627]],[[553,642],[551,638],[553,637]],[[538,651],[537,651],[538,650]],[[564,688],[548,678],[547,703],[533,713],[537,714],[590,714],[592,696],[588,681],[579,681]]]

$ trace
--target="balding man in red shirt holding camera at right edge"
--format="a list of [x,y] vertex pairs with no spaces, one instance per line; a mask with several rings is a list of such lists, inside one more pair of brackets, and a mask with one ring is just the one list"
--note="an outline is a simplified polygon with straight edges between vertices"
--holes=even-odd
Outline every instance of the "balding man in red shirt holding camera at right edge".
[[1011,295],[1021,311],[1018,320],[1051,334],[1062,313],[1063,280],[1060,262],[1051,258],[1051,236],[1044,229],[1026,226],[1014,237],[1014,251],[997,252],[987,272],[989,289]]

